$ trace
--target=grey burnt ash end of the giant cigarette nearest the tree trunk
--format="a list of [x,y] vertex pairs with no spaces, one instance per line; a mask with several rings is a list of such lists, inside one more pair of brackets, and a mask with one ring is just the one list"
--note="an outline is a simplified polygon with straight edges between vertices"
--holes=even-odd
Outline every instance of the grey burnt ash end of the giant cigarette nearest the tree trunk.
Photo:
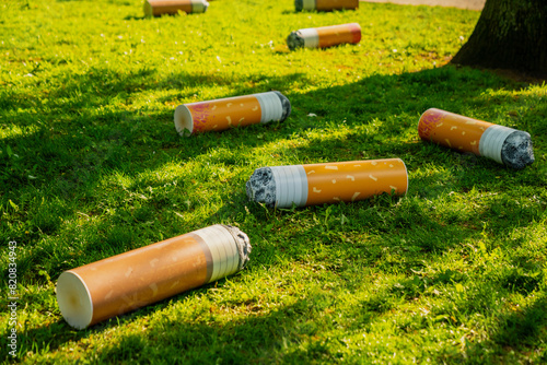
[[501,161],[515,169],[523,169],[534,162],[532,139],[527,132],[516,130],[503,142],[501,146]]

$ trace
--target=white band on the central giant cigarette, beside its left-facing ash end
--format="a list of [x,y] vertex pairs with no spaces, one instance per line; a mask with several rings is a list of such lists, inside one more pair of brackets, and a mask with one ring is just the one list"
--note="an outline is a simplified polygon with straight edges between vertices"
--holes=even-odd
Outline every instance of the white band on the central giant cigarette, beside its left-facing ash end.
[[304,207],[307,200],[307,177],[302,165],[270,167],[276,180],[276,208]]

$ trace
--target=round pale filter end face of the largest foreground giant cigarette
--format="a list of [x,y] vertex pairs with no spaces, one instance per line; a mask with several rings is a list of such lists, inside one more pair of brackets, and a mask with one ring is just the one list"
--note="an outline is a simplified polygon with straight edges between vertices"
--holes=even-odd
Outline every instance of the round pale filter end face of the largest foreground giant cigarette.
[[93,319],[93,303],[88,286],[75,273],[65,271],[56,286],[57,303],[65,320],[81,330]]

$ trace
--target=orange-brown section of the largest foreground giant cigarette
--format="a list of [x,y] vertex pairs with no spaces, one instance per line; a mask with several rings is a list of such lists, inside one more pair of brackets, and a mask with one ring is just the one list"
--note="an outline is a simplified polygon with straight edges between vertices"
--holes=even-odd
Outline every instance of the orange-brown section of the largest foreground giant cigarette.
[[90,326],[206,284],[207,258],[197,239],[186,234],[69,270],[91,294]]

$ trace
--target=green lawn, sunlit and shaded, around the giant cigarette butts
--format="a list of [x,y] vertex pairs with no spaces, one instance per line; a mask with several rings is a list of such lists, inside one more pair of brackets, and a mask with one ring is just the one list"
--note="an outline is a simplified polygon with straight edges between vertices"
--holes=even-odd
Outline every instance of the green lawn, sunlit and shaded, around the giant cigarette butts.
[[[547,85],[446,66],[479,13],[211,1],[143,19],[139,0],[0,4],[0,262],[18,243],[23,363],[547,362]],[[291,31],[358,22],[359,45],[290,52]],[[277,90],[284,122],[182,138],[183,103]],[[528,131],[512,170],[423,143],[438,107]],[[269,210],[255,168],[400,157],[409,190]],[[242,272],[77,331],[63,270],[211,224],[253,245]],[[8,349],[9,350],[9,349]]]

